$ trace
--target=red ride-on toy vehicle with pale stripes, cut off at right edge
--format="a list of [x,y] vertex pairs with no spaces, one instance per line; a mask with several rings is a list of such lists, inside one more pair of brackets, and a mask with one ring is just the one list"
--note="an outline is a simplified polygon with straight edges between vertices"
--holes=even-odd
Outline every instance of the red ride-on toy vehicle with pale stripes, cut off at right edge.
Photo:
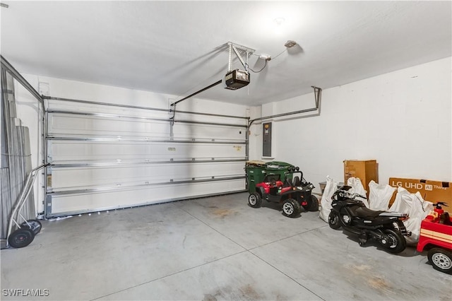
[[417,252],[428,249],[427,258],[437,271],[452,274],[452,219],[441,206],[446,203],[434,203],[432,211],[421,223]]

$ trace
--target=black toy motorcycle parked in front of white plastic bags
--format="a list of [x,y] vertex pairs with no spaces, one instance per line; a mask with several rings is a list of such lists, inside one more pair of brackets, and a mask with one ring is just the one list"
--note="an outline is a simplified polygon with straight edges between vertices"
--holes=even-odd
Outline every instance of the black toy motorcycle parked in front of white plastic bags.
[[328,216],[328,224],[337,230],[340,227],[347,232],[358,235],[359,245],[369,239],[378,241],[381,246],[390,253],[402,252],[407,242],[405,236],[410,236],[403,220],[408,219],[408,214],[388,211],[373,211],[367,208],[362,201],[356,199],[365,196],[350,194],[352,187],[343,186],[336,190],[331,199],[331,213]]

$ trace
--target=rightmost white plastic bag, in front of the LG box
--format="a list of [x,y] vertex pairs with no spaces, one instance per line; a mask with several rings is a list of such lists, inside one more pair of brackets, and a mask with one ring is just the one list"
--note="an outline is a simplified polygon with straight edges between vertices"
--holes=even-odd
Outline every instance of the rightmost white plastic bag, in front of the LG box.
[[424,201],[419,191],[410,194],[407,189],[398,187],[396,201],[389,210],[408,213],[410,218],[404,220],[403,224],[412,234],[410,237],[405,236],[405,240],[408,244],[416,244],[419,242],[421,222],[433,210],[433,203]]

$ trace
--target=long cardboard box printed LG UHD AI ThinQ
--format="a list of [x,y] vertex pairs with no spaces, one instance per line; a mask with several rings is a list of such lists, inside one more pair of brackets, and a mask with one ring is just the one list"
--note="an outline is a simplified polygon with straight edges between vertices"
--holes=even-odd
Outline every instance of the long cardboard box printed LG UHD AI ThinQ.
[[[449,208],[444,208],[446,211],[452,210],[452,182],[432,181],[429,179],[403,179],[398,177],[390,177],[389,185],[392,187],[403,187],[412,194],[417,191],[420,192],[422,198],[426,201],[436,203],[444,201],[448,203]],[[396,199],[396,193],[389,202],[390,204]]]

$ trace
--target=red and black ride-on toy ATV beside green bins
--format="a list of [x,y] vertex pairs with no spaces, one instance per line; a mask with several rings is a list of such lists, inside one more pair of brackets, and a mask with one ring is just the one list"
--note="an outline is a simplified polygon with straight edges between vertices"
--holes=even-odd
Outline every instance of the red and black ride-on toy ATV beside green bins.
[[280,177],[281,175],[266,175],[263,182],[256,184],[256,191],[249,194],[249,206],[259,208],[263,199],[281,203],[283,214],[290,218],[298,216],[301,207],[306,211],[319,211],[319,200],[311,194],[314,185],[303,178],[299,167],[288,170],[284,182]]

